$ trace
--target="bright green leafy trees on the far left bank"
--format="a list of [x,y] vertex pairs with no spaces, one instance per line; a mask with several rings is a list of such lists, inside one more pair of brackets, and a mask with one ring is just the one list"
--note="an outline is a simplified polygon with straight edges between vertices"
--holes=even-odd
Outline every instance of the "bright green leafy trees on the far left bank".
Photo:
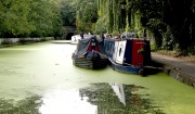
[[52,36],[61,27],[60,1],[2,0],[0,37]]

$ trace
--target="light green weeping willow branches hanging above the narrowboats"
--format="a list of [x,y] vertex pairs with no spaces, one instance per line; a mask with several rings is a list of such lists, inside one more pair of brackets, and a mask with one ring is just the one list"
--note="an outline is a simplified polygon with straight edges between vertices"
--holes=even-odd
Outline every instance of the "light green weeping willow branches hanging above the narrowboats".
[[[123,31],[139,29],[138,27],[141,27],[140,14],[139,10],[134,9],[136,5],[132,5],[134,1],[129,0],[99,0],[96,28],[106,28],[99,31],[118,35]],[[101,25],[99,24],[101,22],[107,22],[107,24]]]

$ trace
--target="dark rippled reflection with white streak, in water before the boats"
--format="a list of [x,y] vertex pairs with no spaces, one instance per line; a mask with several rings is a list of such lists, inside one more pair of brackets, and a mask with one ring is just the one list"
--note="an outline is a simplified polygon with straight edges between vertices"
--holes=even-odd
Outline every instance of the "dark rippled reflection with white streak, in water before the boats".
[[98,114],[165,114],[153,106],[148,94],[133,93],[143,87],[121,84],[91,84],[79,89],[81,97],[88,97],[88,102],[98,105]]

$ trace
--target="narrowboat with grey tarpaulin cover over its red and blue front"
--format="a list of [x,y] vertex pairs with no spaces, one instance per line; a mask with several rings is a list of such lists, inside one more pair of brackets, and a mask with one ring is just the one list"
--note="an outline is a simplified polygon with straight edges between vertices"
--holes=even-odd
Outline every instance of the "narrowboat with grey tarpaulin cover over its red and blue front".
[[73,53],[73,64],[82,68],[100,69],[107,66],[104,40],[96,36],[79,40]]

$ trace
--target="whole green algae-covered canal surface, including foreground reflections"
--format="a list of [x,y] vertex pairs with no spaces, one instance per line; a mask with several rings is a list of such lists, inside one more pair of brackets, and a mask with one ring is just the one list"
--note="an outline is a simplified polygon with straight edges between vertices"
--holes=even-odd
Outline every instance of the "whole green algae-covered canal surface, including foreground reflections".
[[79,68],[75,49],[56,41],[0,49],[0,114],[194,114],[192,87],[162,73]]

